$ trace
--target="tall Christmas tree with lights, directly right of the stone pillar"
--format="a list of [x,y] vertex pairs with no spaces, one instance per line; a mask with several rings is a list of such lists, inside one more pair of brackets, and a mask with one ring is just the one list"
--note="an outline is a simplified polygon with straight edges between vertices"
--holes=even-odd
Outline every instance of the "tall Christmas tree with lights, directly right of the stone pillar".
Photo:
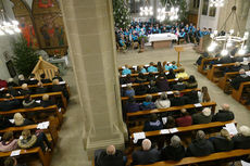
[[113,0],[114,26],[126,28],[130,24],[130,11],[124,0]]

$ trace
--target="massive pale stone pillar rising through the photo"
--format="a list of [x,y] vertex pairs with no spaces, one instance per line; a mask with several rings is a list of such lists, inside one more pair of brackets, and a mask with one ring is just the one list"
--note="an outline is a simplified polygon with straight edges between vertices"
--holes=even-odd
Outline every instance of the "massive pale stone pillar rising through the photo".
[[[86,116],[83,140],[89,154],[124,146],[112,0],[61,0],[70,56]],[[77,122],[75,122],[77,123]]]

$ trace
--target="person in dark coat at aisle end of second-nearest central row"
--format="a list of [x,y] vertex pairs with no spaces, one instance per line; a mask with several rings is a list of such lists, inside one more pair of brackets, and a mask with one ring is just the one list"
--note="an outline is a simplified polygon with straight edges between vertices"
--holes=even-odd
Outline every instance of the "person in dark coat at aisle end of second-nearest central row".
[[229,111],[228,104],[223,104],[222,110],[218,110],[218,112],[213,116],[213,122],[228,122],[233,120],[235,118],[235,114]]

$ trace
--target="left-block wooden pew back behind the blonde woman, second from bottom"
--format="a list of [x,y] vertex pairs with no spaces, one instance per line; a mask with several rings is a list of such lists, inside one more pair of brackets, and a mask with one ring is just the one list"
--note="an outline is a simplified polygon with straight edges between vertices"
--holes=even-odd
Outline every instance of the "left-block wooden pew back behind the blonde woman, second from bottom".
[[[0,133],[4,133],[7,131],[13,131],[13,132],[22,132],[23,130],[37,130],[38,125],[28,125],[28,126],[22,126],[22,127],[9,127],[5,129],[0,130]],[[43,129],[46,133],[49,133],[52,138],[53,143],[55,144],[58,141],[58,130],[57,128],[53,128],[53,126],[50,124],[48,129]]]

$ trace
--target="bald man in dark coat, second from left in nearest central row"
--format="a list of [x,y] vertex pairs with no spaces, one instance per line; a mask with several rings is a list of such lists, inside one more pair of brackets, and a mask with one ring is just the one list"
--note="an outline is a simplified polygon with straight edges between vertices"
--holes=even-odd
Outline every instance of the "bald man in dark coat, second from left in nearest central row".
[[151,148],[149,139],[145,139],[141,144],[142,150],[135,151],[132,154],[132,165],[148,165],[160,161],[160,152]]

